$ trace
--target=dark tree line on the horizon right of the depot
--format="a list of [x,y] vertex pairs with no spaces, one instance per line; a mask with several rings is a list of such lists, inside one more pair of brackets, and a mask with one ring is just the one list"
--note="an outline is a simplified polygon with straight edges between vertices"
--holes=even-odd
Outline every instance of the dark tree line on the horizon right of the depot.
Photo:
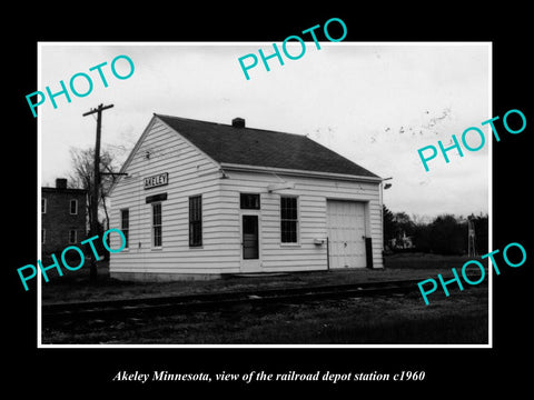
[[392,212],[384,206],[384,241],[388,251],[419,251],[437,254],[468,253],[468,220],[474,227],[477,254],[488,251],[488,216],[445,213],[423,221],[406,212]]

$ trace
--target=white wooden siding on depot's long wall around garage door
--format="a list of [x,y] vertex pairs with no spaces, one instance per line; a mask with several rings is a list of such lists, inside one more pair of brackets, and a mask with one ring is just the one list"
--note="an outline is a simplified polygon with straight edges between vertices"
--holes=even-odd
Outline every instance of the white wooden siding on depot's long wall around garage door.
[[[333,179],[290,177],[270,173],[227,171],[230,179],[221,180],[220,199],[233,204],[225,207],[228,221],[236,218],[238,230],[239,193],[260,193],[260,260],[265,272],[305,271],[327,268],[326,246],[316,246],[314,239],[326,239],[328,199],[363,201],[368,209],[366,236],[373,238],[373,263],[383,267],[382,204],[379,184]],[[280,179],[294,182],[294,189],[269,193],[267,187],[280,183]],[[280,196],[298,197],[298,243],[280,242]],[[234,208],[235,207],[235,208]]]

